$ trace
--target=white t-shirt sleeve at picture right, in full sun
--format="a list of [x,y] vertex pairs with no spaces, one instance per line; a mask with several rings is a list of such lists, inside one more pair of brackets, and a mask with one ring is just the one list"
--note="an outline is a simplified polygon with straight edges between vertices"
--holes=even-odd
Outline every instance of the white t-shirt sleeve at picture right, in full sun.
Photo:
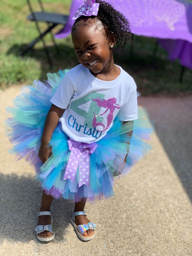
[[137,89],[130,94],[129,100],[121,106],[117,115],[120,121],[131,121],[138,118]]

